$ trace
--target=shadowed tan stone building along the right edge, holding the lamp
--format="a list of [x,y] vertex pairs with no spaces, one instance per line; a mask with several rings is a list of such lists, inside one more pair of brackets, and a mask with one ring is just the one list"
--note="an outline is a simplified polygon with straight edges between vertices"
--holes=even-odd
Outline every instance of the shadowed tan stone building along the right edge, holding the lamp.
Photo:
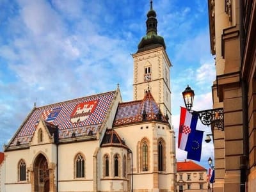
[[224,110],[224,130],[213,130],[214,191],[256,191],[256,1],[208,4],[213,108]]

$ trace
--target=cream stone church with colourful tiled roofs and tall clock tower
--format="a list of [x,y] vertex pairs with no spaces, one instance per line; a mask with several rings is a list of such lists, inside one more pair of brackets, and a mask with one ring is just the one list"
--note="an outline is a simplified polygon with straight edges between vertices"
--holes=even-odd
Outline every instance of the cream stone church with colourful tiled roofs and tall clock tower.
[[152,1],[134,60],[133,100],[119,86],[35,106],[4,146],[4,191],[175,191],[170,67]]

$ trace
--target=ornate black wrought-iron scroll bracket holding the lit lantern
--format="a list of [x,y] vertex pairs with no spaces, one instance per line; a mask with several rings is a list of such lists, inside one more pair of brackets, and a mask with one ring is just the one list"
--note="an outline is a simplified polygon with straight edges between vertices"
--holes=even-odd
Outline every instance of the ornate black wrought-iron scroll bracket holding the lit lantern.
[[224,131],[224,113],[223,108],[207,109],[204,111],[189,111],[189,113],[196,113],[204,125],[213,124],[221,131]]

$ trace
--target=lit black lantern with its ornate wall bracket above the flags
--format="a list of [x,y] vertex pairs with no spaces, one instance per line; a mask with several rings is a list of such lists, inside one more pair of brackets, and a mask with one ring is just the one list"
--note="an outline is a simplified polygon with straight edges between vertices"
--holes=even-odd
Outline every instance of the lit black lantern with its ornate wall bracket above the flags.
[[204,111],[193,111],[193,101],[195,97],[194,91],[187,86],[184,92],[182,92],[184,103],[189,113],[197,113],[200,121],[204,125],[213,124],[214,127],[218,127],[221,131],[224,131],[224,113],[223,108],[207,109]]

